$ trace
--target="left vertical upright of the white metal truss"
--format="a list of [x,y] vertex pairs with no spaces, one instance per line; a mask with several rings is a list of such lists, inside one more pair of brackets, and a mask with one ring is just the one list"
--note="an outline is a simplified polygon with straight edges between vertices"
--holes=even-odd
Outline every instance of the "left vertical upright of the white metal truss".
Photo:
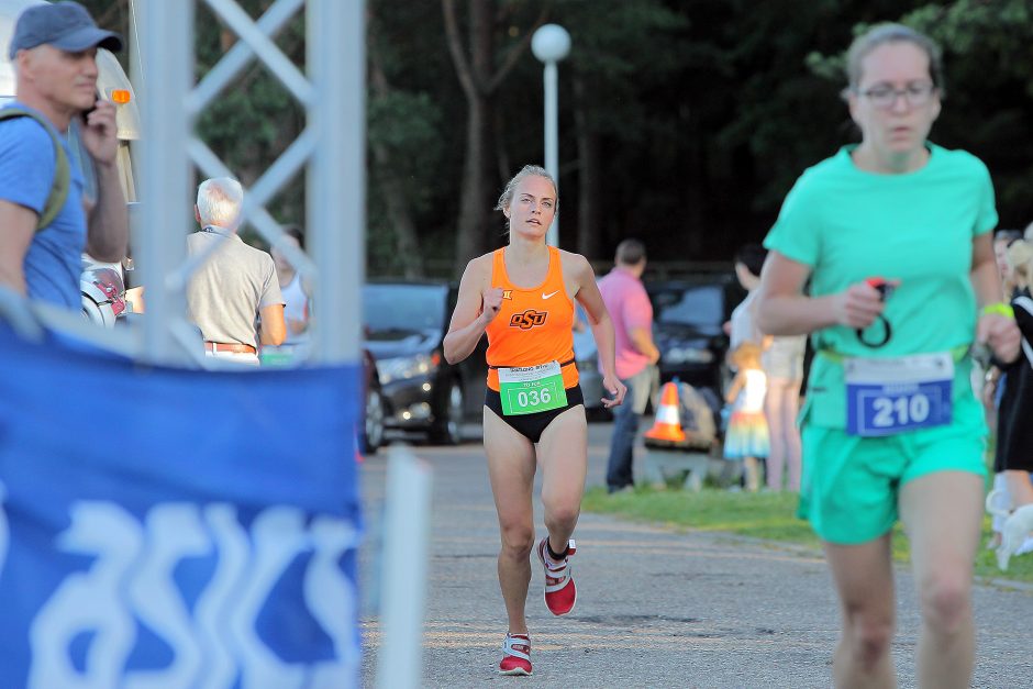
[[186,234],[193,207],[189,189],[187,134],[193,122],[184,102],[193,73],[193,2],[143,2],[142,64],[147,69],[143,90],[141,201],[144,220],[132,237],[147,290],[143,319],[144,352],[154,360],[173,363],[181,347],[174,341],[175,323],[186,314],[182,290],[165,289],[165,277],[186,257]]

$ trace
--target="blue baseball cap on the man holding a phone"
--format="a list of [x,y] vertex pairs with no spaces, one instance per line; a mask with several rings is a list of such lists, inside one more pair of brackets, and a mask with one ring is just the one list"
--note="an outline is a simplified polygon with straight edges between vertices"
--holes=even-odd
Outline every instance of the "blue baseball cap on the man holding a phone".
[[19,51],[37,45],[78,53],[92,47],[122,49],[122,36],[98,29],[85,7],[71,0],[33,5],[18,15],[8,56],[14,59]]

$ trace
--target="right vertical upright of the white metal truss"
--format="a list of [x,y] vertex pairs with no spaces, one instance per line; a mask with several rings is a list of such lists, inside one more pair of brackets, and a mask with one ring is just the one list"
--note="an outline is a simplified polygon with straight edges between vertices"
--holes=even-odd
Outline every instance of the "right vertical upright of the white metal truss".
[[308,218],[319,274],[316,358],[359,360],[366,268],[366,3],[310,0],[307,63],[318,102],[309,126]]

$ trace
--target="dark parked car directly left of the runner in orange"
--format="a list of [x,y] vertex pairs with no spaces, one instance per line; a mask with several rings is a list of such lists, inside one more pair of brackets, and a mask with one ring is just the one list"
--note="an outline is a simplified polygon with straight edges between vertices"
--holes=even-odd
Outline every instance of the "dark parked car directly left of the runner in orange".
[[386,430],[456,444],[463,423],[480,419],[487,338],[458,366],[442,351],[456,292],[454,284],[430,280],[370,280],[363,287],[366,347],[377,359]]

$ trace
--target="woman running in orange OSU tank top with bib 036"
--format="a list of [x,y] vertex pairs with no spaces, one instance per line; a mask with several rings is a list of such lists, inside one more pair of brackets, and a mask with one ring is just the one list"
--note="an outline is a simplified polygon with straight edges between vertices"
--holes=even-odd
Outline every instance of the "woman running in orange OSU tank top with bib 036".
[[[604,371],[603,387],[620,404],[624,386],[614,370],[613,324],[596,276],[579,255],[549,247],[545,233],[559,203],[543,168],[527,165],[506,186],[497,210],[509,219],[509,245],[473,259],[463,273],[445,336],[451,364],[488,335],[485,454],[499,514],[499,584],[509,633],[499,671],[531,674],[524,608],[531,552],[545,568],[545,604],[574,609],[577,589],[568,558],[588,468],[588,425],[574,364],[574,300],[585,308]],[[532,492],[542,467],[542,505],[548,535],[535,545]]]

